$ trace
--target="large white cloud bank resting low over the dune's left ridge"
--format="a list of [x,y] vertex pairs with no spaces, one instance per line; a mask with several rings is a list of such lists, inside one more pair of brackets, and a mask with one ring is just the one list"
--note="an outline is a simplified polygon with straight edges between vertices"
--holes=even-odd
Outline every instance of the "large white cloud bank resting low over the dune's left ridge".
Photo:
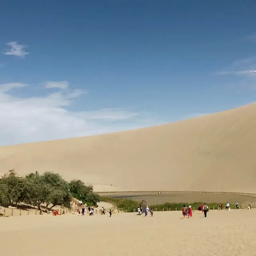
[[148,126],[144,116],[122,109],[70,111],[82,90],[59,90],[44,97],[20,98],[12,89],[22,83],[0,85],[0,145],[87,136]]

